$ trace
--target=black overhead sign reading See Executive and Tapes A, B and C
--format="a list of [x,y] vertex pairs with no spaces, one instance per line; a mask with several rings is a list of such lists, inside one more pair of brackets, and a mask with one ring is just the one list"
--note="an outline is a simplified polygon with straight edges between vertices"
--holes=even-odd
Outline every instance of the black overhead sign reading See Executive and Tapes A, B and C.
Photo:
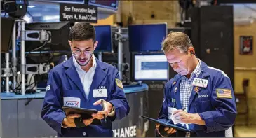
[[60,4],[60,21],[97,23],[97,6]]

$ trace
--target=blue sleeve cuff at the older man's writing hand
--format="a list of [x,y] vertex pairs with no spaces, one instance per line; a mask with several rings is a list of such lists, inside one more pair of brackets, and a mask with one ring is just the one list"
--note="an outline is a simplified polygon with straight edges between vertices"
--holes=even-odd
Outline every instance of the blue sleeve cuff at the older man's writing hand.
[[213,120],[213,115],[212,113],[210,113],[210,111],[208,112],[203,112],[203,113],[198,113],[199,116],[202,118],[202,120],[205,121],[206,123],[206,132],[213,132],[215,131],[215,125],[214,125],[214,120]]

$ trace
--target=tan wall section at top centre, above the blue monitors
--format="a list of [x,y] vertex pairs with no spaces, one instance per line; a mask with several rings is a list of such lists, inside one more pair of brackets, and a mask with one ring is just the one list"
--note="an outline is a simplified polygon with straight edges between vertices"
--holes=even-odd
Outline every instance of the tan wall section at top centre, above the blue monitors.
[[179,8],[177,1],[121,1],[121,20],[126,26],[131,15],[135,24],[167,22],[168,27],[175,27],[180,22]]

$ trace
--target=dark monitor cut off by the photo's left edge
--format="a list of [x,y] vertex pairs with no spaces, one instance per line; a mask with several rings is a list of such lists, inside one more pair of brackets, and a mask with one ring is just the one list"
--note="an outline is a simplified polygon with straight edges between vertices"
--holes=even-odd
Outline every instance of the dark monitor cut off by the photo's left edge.
[[1,17],[1,53],[8,53],[11,46],[14,18]]

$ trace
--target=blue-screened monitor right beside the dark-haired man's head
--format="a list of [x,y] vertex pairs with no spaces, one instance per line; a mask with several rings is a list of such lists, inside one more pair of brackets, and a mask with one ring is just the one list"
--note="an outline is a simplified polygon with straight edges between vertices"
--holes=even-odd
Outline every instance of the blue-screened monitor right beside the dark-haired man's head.
[[112,27],[111,25],[95,25],[96,41],[95,51],[112,52]]

